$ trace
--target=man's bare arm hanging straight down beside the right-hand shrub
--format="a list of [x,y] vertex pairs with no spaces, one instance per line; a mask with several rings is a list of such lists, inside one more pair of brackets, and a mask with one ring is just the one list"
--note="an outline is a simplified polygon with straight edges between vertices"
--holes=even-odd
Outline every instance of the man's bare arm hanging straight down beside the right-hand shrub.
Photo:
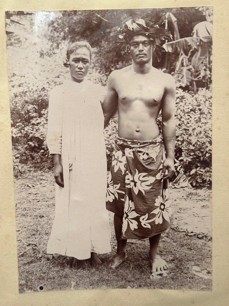
[[[162,134],[166,153],[162,169],[163,179],[169,179],[175,173],[174,150],[176,142],[176,86],[171,75],[166,75],[166,78],[165,92],[162,98]],[[165,174],[166,170],[168,170],[168,174]]]

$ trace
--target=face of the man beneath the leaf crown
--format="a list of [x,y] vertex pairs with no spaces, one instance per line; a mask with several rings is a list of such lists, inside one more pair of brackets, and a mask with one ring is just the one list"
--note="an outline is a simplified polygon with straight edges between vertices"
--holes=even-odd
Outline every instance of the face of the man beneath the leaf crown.
[[153,43],[146,36],[135,35],[130,42],[130,54],[136,64],[146,64],[152,61]]

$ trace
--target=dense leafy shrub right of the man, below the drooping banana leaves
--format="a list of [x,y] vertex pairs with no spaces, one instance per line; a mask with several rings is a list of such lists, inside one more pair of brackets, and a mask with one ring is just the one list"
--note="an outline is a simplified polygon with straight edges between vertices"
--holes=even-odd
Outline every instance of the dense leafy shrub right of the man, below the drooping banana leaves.
[[212,96],[205,88],[197,94],[176,90],[175,167],[192,186],[211,184]]

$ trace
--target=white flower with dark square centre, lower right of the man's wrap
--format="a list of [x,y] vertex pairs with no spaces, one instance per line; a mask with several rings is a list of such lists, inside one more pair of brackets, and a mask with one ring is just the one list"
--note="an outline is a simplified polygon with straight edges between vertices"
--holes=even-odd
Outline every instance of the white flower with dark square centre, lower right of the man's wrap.
[[[171,200],[169,199],[169,189],[163,189],[163,196],[158,196],[155,200],[155,206],[158,206],[151,214],[156,214],[155,224],[162,224],[163,218],[169,221],[169,217],[172,215]],[[163,218],[162,218],[163,217]]]

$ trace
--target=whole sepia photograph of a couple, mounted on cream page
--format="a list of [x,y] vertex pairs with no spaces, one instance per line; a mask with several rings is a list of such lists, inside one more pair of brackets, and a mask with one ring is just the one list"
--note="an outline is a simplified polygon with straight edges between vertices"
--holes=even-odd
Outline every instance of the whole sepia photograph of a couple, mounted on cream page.
[[5,24],[19,293],[211,291],[213,7]]

